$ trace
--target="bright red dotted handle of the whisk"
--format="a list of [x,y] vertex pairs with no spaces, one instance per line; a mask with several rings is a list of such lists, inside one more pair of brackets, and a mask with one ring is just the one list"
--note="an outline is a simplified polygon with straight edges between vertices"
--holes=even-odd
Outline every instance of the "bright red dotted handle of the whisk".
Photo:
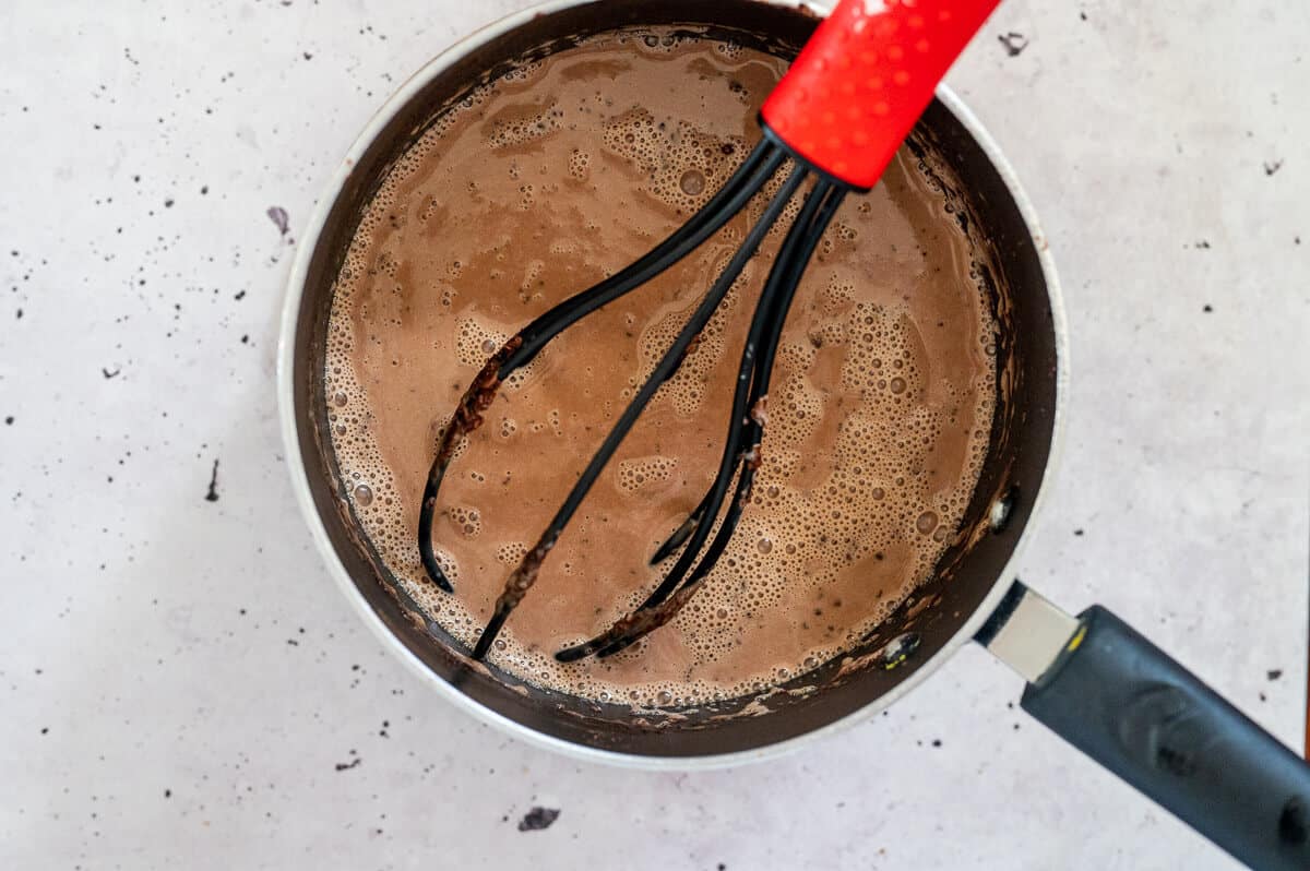
[[761,117],[815,168],[870,189],[1000,0],[841,0]]

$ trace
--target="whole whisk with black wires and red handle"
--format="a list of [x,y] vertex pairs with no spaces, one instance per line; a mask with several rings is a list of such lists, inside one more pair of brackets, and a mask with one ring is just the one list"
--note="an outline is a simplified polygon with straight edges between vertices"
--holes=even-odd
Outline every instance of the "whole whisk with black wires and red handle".
[[[769,377],[778,339],[815,246],[846,194],[867,191],[878,182],[933,98],[937,83],[998,1],[841,0],[769,94],[760,110],[764,138],[723,187],[645,257],[541,314],[486,361],[441,434],[419,510],[418,545],[423,568],[447,592],[453,589],[432,544],[438,491],[460,439],[482,423],[482,413],[490,407],[500,384],[531,363],[555,335],[686,257],[790,162],[786,179],[741,246],[624,409],[536,546],[524,554],[506,580],[491,620],[473,648],[474,659],[486,656],[605,464],[660,385],[677,372],[787,203],[812,177],[814,183],[787,229],[751,318],[718,473],[696,510],[655,550],[650,562],[652,566],[663,563],[681,549],[677,561],[641,606],[596,638],[562,650],[555,658],[574,661],[617,654],[667,623],[696,595],[727,547],[749,500],[760,466]],[[732,487],[734,479],[736,487]],[[720,512],[718,532],[710,540]]]

